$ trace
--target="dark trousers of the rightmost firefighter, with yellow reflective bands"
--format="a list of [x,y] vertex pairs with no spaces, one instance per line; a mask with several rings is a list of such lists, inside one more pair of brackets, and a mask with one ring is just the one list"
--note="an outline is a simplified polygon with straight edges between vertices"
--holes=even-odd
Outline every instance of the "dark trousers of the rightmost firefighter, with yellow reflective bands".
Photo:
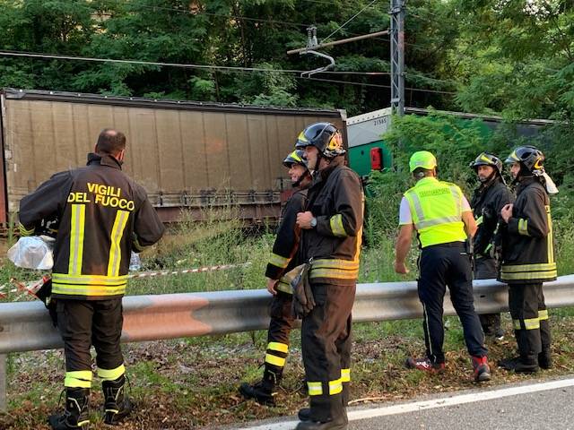
[[520,358],[536,362],[552,343],[542,283],[509,285],[509,308]]

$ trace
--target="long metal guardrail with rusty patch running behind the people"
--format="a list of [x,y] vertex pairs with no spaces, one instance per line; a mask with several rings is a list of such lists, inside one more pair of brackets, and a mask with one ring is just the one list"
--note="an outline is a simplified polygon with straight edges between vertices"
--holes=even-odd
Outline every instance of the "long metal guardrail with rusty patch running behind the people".
[[[448,293],[447,293],[448,296]],[[544,284],[548,307],[574,305],[574,275]],[[124,297],[122,342],[164,340],[267,329],[271,297],[264,289]],[[479,314],[508,311],[508,288],[496,280],[474,280]],[[416,282],[359,284],[355,323],[422,316]],[[455,315],[449,299],[445,315]],[[5,354],[62,348],[62,340],[40,302],[0,304],[0,410],[5,409]]]

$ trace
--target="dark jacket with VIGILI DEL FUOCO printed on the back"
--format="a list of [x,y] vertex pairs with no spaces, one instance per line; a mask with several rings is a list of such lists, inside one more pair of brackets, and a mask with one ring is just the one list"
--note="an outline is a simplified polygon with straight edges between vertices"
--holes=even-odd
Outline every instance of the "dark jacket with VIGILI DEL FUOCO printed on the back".
[[164,230],[143,187],[107,155],[89,154],[85,168],[57,173],[22,198],[21,234],[55,214],[53,297],[122,297],[132,248],[154,244]]

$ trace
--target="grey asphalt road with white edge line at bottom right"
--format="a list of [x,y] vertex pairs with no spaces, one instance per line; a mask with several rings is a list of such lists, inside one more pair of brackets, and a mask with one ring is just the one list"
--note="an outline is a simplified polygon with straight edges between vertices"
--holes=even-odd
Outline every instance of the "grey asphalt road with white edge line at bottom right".
[[[574,430],[574,375],[456,391],[408,403],[350,408],[350,430],[497,429]],[[252,430],[292,430],[295,417],[252,423]]]

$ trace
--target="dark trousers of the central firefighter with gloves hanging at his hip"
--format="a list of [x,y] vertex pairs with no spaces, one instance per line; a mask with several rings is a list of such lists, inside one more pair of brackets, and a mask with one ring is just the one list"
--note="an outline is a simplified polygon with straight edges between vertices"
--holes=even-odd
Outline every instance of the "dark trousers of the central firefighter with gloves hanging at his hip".
[[301,348],[313,421],[344,416],[351,382],[351,311],[356,286],[312,284],[316,306],[303,318]]

